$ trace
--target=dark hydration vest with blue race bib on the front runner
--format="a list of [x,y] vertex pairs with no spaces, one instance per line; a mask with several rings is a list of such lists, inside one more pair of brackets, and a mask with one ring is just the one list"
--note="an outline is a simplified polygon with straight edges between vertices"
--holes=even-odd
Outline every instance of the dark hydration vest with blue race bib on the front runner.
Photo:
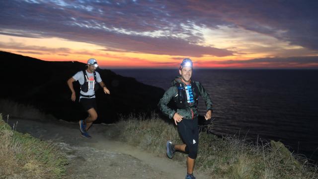
[[182,83],[176,83],[178,94],[174,96],[174,102],[178,109],[186,109],[189,106],[197,106],[199,89],[194,81],[191,80],[190,86],[183,86]]

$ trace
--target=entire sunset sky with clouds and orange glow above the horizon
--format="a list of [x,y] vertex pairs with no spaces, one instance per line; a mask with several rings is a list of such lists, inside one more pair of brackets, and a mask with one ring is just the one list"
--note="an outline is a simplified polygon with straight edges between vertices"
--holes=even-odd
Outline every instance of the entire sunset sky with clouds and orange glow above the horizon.
[[317,0],[1,0],[0,12],[0,50],[41,60],[318,68]]

